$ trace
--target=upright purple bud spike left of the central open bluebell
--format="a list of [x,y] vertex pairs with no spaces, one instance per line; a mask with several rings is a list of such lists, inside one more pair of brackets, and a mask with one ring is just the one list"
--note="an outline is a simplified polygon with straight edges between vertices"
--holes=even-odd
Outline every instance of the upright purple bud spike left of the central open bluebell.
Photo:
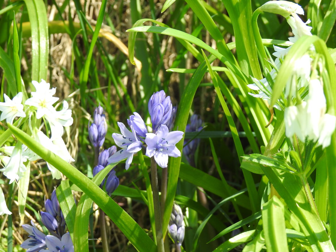
[[89,127],[89,138],[94,147],[99,148],[105,141],[107,132],[106,117],[104,110],[98,106],[93,113],[93,123]]

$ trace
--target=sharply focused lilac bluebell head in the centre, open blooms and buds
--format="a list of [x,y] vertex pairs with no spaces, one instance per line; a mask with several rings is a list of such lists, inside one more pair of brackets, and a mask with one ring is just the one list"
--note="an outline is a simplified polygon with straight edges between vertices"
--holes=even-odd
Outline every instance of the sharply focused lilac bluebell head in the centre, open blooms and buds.
[[[152,95],[148,102],[148,110],[151,116],[153,133],[149,133],[141,116],[134,112],[127,120],[131,130],[118,122],[121,134],[113,133],[115,143],[121,148],[112,155],[108,162],[116,163],[126,159],[126,169],[129,168],[134,153],[141,150],[143,143],[147,144],[146,156],[154,157],[157,164],[165,168],[168,165],[168,156],[180,157],[181,153],[175,144],[182,139],[182,131],[171,131],[167,123],[172,123],[173,107],[170,97],[163,90]],[[175,109],[176,111],[176,109]]]

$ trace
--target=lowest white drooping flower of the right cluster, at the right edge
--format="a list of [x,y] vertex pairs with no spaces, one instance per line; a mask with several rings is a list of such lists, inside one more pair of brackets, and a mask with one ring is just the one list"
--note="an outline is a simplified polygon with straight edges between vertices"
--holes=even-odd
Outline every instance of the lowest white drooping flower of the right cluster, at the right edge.
[[330,114],[325,114],[320,121],[320,136],[318,145],[322,145],[322,148],[326,148],[330,145],[331,135],[336,128],[336,117]]

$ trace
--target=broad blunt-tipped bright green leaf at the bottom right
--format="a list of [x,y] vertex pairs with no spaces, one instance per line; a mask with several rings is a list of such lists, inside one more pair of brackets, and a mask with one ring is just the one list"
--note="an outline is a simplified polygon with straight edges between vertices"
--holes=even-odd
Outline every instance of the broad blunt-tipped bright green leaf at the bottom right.
[[267,248],[288,251],[284,205],[275,196],[262,206],[262,226]]

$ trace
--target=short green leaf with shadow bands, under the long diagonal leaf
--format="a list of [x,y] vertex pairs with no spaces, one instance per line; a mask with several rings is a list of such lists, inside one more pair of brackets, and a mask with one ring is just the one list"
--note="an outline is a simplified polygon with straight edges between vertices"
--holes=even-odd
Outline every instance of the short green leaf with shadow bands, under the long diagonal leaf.
[[74,225],[76,216],[76,204],[74,196],[71,192],[69,180],[62,180],[61,184],[56,189],[57,200],[62,209],[65,222],[69,229],[72,240],[74,241]]

